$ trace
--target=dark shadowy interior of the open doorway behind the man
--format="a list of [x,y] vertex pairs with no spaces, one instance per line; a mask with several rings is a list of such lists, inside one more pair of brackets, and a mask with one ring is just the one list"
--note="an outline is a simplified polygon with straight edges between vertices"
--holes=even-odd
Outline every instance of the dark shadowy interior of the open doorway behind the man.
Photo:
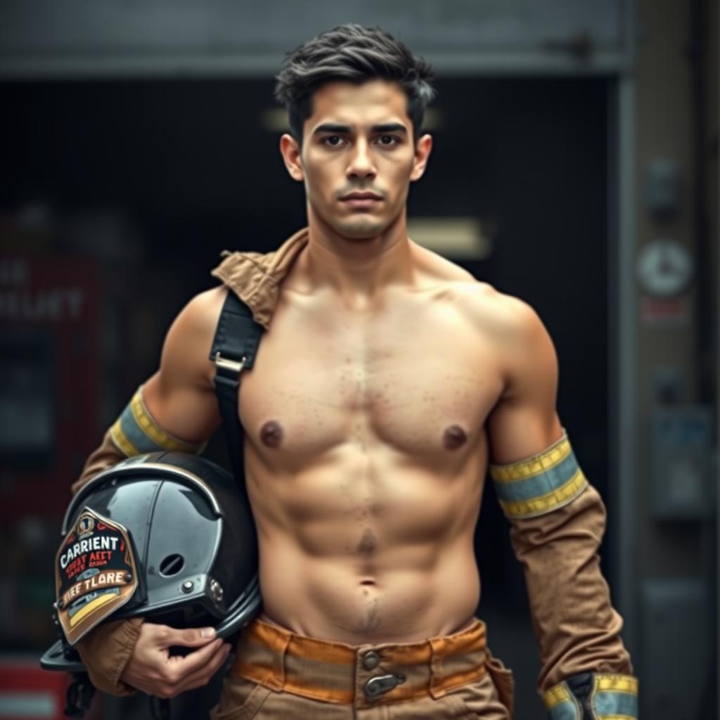
[[[539,312],[559,355],[560,418],[605,497],[609,83],[440,78],[434,107],[441,124],[408,205],[410,217],[474,215],[492,225],[492,256],[459,264]],[[261,125],[261,113],[274,107],[271,91],[270,80],[0,84],[3,254],[91,261],[99,283],[94,444],[73,449],[73,470],[156,369],[182,305],[215,284],[209,271],[220,251],[269,251],[305,225],[302,185],[282,165],[279,132]],[[81,358],[76,373],[84,373]],[[57,402],[59,395],[55,387]],[[223,452],[216,438],[210,454],[222,459]],[[75,477],[70,472],[61,487],[57,480],[50,487],[9,456],[2,464],[0,500],[12,521],[0,539],[19,556],[0,567],[0,644],[44,649],[53,641],[52,557],[28,562],[23,548],[30,533],[33,548],[54,554]],[[28,482],[58,498],[54,511],[33,515],[14,500]],[[483,584],[477,614],[488,624],[490,647],[521,686],[532,687],[538,663],[522,572],[491,485],[476,547]],[[608,575],[609,548],[602,552]],[[6,612],[17,598],[19,617]],[[191,716],[195,702],[174,701],[178,716]],[[516,702],[518,717],[539,716],[535,696]],[[106,716],[121,704],[109,703],[115,709]]]

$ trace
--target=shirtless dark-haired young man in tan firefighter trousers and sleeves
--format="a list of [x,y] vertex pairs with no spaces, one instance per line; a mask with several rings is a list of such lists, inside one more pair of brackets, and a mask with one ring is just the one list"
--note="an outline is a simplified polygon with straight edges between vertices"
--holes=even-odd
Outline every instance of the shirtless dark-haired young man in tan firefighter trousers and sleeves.
[[[265,326],[239,399],[264,611],[243,630],[217,719],[512,717],[512,674],[474,617],[489,464],[552,717],[636,716],[596,554],[605,508],[556,413],[552,341],[525,302],[407,235],[409,185],[432,148],[430,76],[377,28],[337,27],[289,54],[280,151],[305,185],[307,228],[225,258],[124,415],[145,449],[199,449],[220,423],[208,354],[226,294]],[[122,421],[75,489],[132,454]],[[197,649],[168,657],[176,644]],[[206,683],[229,647],[134,620],[79,649],[100,688],[168,697]]]

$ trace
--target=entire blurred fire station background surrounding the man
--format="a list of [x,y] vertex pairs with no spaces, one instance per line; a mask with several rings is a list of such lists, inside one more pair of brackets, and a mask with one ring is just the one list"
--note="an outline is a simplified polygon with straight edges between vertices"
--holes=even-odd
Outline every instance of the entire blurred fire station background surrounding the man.
[[[554,339],[559,415],[608,505],[603,570],[642,713],[715,717],[717,0],[6,0],[0,718],[59,716],[37,657],[87,454],[220,251],[269,251],[305,224],[273,75],[343,22],[379,24],[436,69],[410,237],[530,302]],[[222,462],[222,438],[209,453]],[[485,495],[477,615],[516,674],[518,719],[541,717],[521,568]],[[176,698],[174,716],[213,693]],[[94,712],[147,710],[99,697]]]

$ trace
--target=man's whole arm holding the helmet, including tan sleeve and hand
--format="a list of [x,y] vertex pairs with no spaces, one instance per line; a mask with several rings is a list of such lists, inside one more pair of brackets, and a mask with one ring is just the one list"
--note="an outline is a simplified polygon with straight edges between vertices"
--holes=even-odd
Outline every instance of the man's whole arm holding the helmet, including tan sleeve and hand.
[[[222,286],[203,292],[179,313],[163,344],[158,372],[105,433],[73,483],[73,493],[127,457],[163,449],[202,450],[220,424],[208,356],[226,292]],[[76,647],[100,690],[127,695],[139,688],[171,696],[206,682],[225,659],[220,640],[210,640],[212,635],[201,637],[199,630],[178,631],[132,618],[97,626]],[[207,647],[168,662],[168,644]]]

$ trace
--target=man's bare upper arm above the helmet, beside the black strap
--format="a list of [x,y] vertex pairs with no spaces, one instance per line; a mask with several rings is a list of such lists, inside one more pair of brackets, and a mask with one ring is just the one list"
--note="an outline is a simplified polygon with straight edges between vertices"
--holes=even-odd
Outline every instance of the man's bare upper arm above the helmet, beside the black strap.
[[168,330],[158,372],[142,388],[159,428],[188,444],[204,443],[220,424],[210,346],[225,292],[201,293],[184,307]]

